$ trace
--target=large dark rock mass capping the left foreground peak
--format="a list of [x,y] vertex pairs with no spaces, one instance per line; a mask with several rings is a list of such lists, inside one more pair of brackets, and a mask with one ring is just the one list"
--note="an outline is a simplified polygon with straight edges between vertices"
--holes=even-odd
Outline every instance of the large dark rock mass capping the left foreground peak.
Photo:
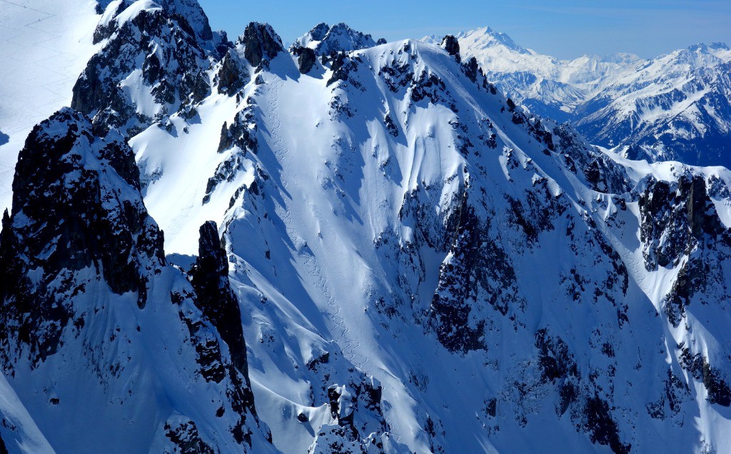
[[[119,190],[120,177],[128,189]],[[83,291],[69,288],[71,273],[83,268],[95,268],[115,293],[137,292],[145,306],[145,276],[164,264],[164,253],[139,188],[134,154],[117,133],[94,137],[88,118],[68,108],[34,127],[18,156],[12,214],[4,214],[0,236],[4,352],[17,351],[7,347],[12,341],[28,344],[33,360],[56,351],[74,316],[59,294]],[[31,281],[37,269],[42,278]]]

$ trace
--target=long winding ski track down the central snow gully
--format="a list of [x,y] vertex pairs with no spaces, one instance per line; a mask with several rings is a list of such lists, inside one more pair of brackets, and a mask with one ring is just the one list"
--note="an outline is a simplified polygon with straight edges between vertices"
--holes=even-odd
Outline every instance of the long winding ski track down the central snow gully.
[[[278,78],[276,82],[273,83],[272,89],[270,90],[271,96],[270,101],[267,105],[267,114],[269,118],[271,118],[270,147],[272,148],[274,156],[276,156],[276,159],[279,161],[279,164],[282,165],[282,168],[284,169],[284,159],[287,158],[287,154],[289,154],[289,149],[282,145],[284,139],[281,137],[280,134],[281,118],[279,117],[279,92],[281,91],[282,87],[284,87],[284,81]],[[282,186],[284,186],[285,192],[289,193],[286,178],[281,178],[281,184]],[[281,220],[282,222],[284,222],[284,228],[287,230],[287,235],[290,239],[295,238],[295,230],[291,227],[292,212],[286,207],[282,208],[284,210],[284,213],[281,216]],[[313,211],[316,210],[316,208],[314,207],[311,207],[311,209]],[[307,247],[309,249],[309,246]],[[294,252],[300,254],[300,256],[306,255],[304,263],[310,269],[309,275],[314,278],[315,285],[322,291],[322,295],[327,298],[327,306],[330,309],[330,319],[333,321],[333,324],[336,328],[335,330],[333,330],[332,333],[333,337],[335,338],[336,344],[338,344],[338,347],[340,347],[343,356],[346,357],[346,359],[349,360],[354,366],[362,370],[363,366],[368,362],[368,357],[366,357],[365,355],[360,355],[360,353],[356,352],[356,349],[360,347],[360,343],[348,336],[350,329],[346,327],[345,319],[341,314],[343,309],[338,303],[336,303],[335,297],[333,297],[332,293],[330,292],[330,285],[327,283],[327,279],[322,273],[322,267],[318,264],[317,257],[315,257],[312,251],[310,254],[303,254],[296,250]]]

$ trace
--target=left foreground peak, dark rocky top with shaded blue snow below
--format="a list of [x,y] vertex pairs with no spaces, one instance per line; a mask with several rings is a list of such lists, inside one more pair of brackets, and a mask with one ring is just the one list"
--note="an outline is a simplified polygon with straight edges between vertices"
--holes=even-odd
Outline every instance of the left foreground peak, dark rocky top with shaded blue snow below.
[[246,356],[232,363],[205,304],[165,263],[129,145],[91,131],[64,109],[20,152],[0,237],[4,374],[59,452],[266,452],[268,430],[235,367]]

